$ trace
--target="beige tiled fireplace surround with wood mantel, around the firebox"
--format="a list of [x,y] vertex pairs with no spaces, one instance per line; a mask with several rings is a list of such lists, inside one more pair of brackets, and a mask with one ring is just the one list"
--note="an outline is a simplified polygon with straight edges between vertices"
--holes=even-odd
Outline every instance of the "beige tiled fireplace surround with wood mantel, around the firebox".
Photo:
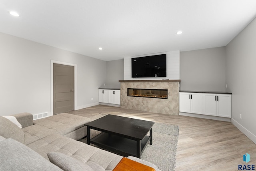
[[[179,82],[180,80],[120,80],[120,107],[179,115]],[[128,96],[127,89],[167,89],[168,98],[148,98]]]

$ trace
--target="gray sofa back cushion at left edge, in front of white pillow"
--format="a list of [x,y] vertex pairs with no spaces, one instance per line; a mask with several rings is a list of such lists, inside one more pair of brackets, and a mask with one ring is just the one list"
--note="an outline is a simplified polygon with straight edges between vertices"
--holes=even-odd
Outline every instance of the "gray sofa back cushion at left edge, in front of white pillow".
[[0,135],[4,138],[12,138],[24,143],[24,132],[9,119],[0,116]]

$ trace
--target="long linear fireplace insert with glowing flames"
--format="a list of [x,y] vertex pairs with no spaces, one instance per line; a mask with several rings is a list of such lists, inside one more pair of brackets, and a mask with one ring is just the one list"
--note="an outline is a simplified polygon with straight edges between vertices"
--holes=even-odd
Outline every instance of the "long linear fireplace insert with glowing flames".
[[128,88],[127,96],[168,99],[168,90],[167,89]]

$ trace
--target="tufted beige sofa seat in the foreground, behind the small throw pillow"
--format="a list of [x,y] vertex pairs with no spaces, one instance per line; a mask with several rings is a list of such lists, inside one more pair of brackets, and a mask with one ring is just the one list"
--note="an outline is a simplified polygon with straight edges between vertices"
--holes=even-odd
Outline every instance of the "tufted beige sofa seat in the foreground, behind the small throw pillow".
[[[46,159],[49,152],[60,152],[71,156],[82,163],[86,163],[97,171],[113,170],[122,159],[122,156],[104,151],[97,147],[52,134],[27,145]],[[95,169],[96,168],[96,169]]]

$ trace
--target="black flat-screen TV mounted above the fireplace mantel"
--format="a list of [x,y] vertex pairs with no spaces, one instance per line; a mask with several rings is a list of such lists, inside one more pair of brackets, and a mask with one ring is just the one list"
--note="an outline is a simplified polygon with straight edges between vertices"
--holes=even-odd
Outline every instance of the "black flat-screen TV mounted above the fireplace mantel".
[[166,54],[132,58],[132,78],[166,77]]

